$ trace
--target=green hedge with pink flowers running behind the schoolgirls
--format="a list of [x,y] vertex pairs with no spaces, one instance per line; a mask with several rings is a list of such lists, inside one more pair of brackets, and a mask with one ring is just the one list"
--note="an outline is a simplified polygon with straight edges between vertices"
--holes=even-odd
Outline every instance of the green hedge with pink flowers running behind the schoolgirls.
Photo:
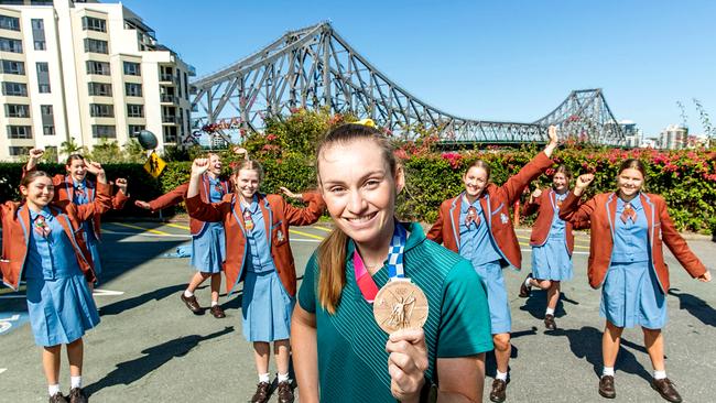
[[[492,181],[503,183],[509,175],[519,171],[539,152],[535,146],[520,150],[488,149],[479,152],[432,152],[425,149],[401,148],[406,172],[406,187],[400,196],[398,214],[406,219],[432,222],[437,216],[441,202],[459,194],[463,189],[462,175],[466,167],[480,157],[490,163]],[[230,171],[225,156],[225,172]],[[279,186],[302,190],[316,185],[313,155],[299,152],[282,152],[280,156],[265,153],[258,155],[265,178],[261,185],[264,193],[278,193]],[[554,159],[564,163],[577,175],[595,172],[596,178],[588,188],[588,195],[615,189],[619,163],[628,157],[638,157],[647,163],[647,192],[662,195],[669,205],[669,213],[680,230],[716,233],[716,153],[709,151],[655,151],[618,150],[563,146]],[[50,173],[64,172],[62,164],[41,164]],[[154,179],[140,164],[105,165],[108,176],[127,177],[132,198],[152,199],[188,179],[189,162],[170,162],[159,179]],[[551,173],[550,171],[547,173]],[[0,200],[17,199],[21,164],[0,164]],[[550,176],[542,175],[534,188],[550,185]],[[124,216],[148,215],[133,205]],[[529,222],[529,221],[528,221]]]

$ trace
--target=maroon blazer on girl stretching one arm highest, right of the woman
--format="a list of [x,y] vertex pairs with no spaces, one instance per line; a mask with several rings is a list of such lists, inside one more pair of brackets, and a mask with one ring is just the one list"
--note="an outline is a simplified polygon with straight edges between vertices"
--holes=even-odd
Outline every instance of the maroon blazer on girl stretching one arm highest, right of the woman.
[[[480,196],[480,206],[487,216],[487,225],[492,239],[508,264],[520,270],[522,266],[522,252],[517,241],[514,227],[510,219],[510,206],[522,195],[522,190],[538,176],[552,166],[552,160],[540,152],[532,161],[511,176],[502,186],[492,183]],[[437,221],[427,231],[427,238],[445,248],[457,252],[459,249],[459,218],[463,204],[463,194],[443,202],[437,213]]]

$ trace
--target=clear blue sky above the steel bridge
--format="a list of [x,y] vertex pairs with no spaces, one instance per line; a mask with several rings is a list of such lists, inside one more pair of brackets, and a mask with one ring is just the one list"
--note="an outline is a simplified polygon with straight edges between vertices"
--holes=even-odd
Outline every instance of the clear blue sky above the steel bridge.
[[447,112],[533,121],[572,89],[603,88],[648,135],[716,121],[716,1],[124,0],[198,76],[288,30],[328,20],[414,96]]

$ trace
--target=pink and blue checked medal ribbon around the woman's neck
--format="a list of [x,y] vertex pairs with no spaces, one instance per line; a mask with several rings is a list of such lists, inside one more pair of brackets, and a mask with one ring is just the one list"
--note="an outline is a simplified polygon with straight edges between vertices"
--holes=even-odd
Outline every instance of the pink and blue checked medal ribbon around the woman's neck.
[[[395,222],[393,237],[390,240],[390,247],[388,248],[388,276],[390,280],[405,277],[405,270],[403,269],[403,252],[405,251],[406,238],[408,232],[405,231],[405,228]],[[378,294],[378,286],[370,273],[366,270],[366,265],[358,253],[358,249],[354,251],[352,264],[358,288],[364,295],[364,298],[372,304]]]

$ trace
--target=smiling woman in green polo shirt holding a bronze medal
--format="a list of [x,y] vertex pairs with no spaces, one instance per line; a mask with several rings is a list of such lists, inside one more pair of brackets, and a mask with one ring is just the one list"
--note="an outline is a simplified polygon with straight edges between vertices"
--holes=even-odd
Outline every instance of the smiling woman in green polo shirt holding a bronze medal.
[[[338,127],[318,146],[317,170],[335,229],[307,264],[292,319],[301,402],[419,402],[431,385],[438,401],[480,401],[492,349],[485,288],[469,261],[394,218],[404,176],[388,140],[369,126]],[[416,327],[411,293],[390,313],[406,328],[388,334],[373,305],[379,288],[401,282],[389,279],[395,268],[427,314]]]

